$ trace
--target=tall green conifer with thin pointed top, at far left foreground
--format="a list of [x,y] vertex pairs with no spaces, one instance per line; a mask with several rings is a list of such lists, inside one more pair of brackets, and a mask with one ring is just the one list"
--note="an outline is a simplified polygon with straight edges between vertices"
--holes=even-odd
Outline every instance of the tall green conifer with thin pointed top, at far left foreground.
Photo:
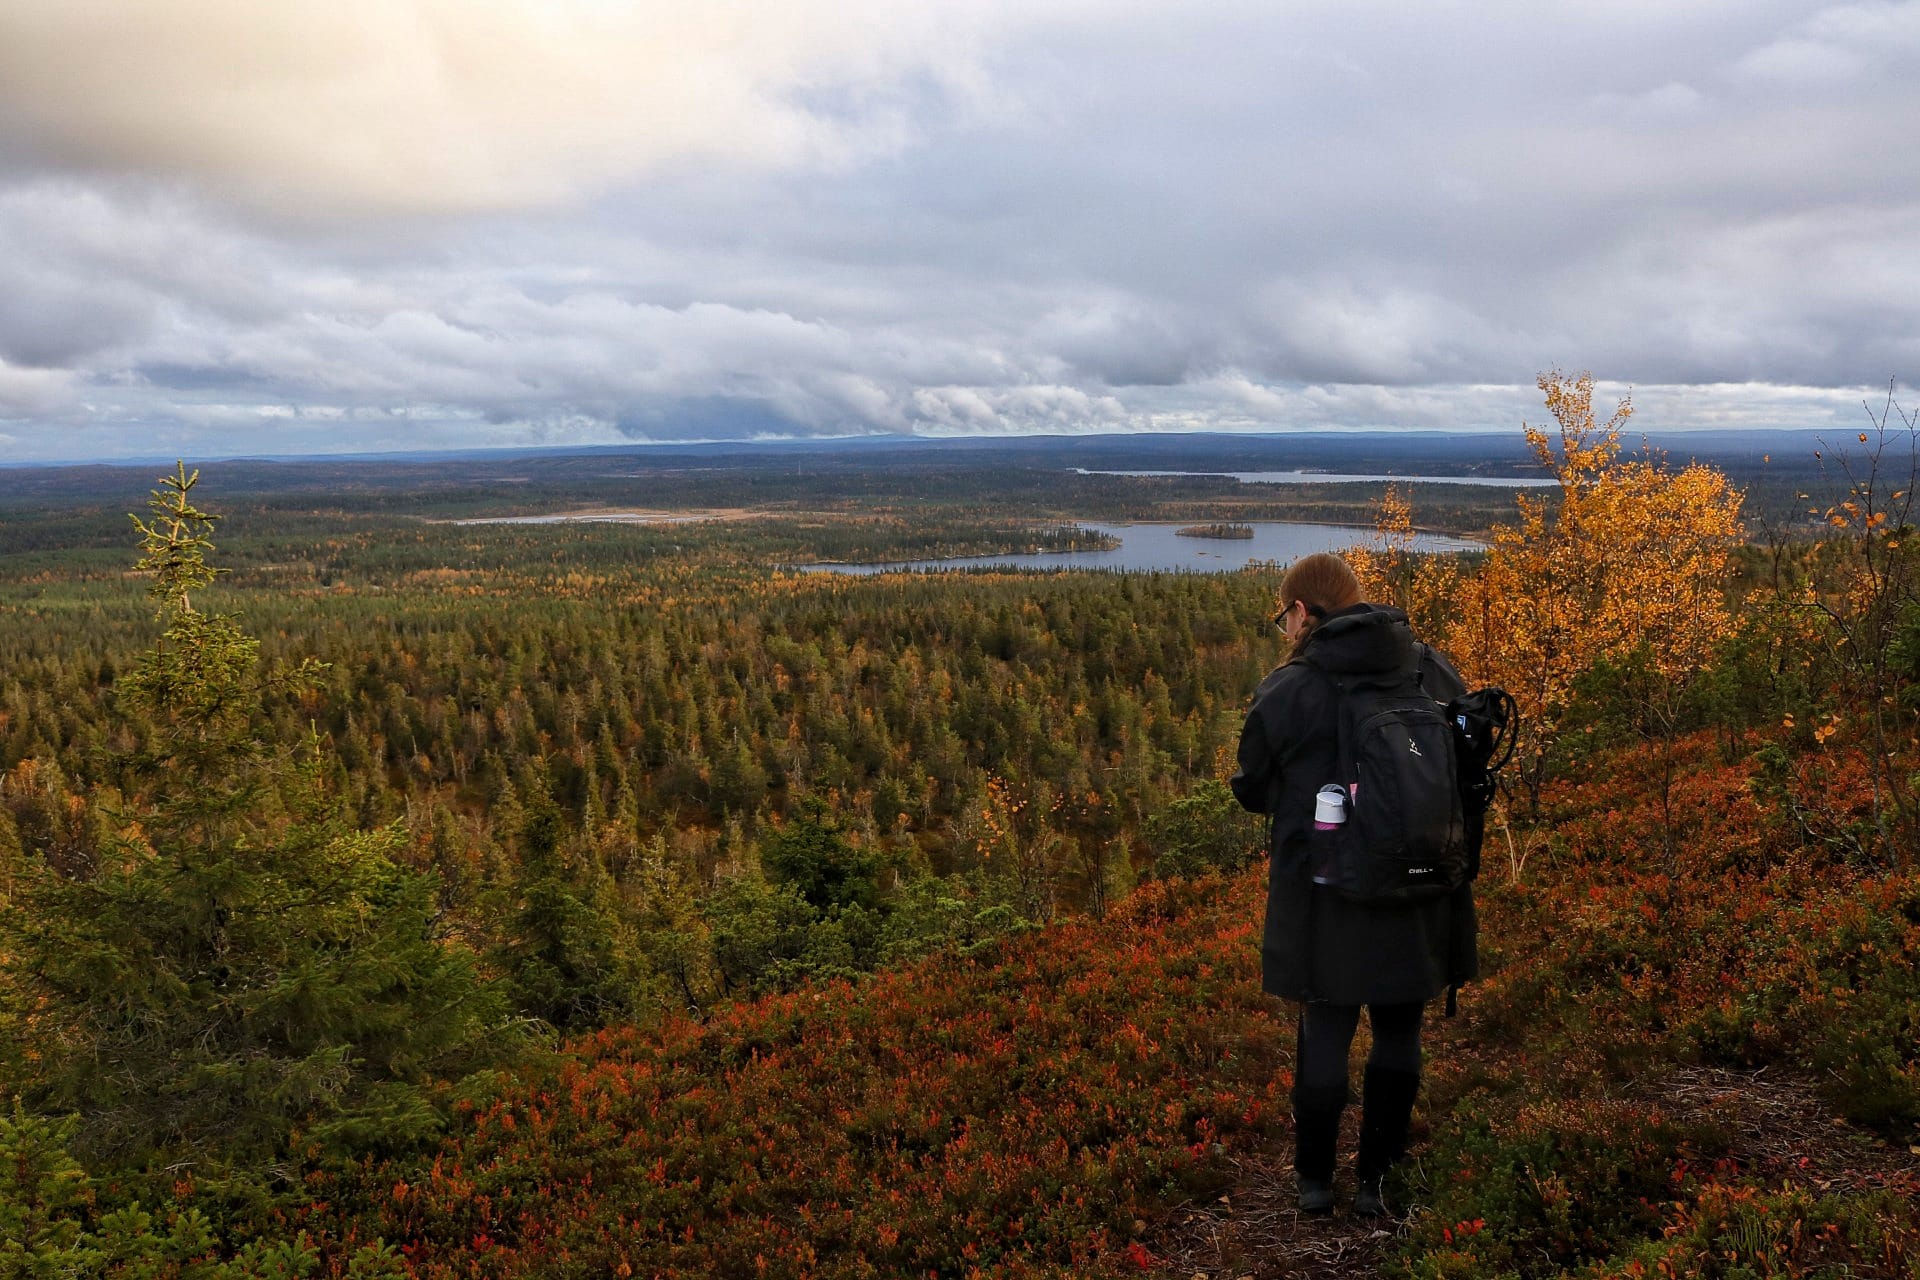
[[117,833],[94,867],[29,860],[4,915],[27,1102],[77,1111],[96,1161],[407,1142],[438,1123],[422,1086],[501,1044],[501,1004],[434,935],[399,827],[355,829],[319,741],[273,741],[269,699],[319,668],[263,676],[238,620],[196,606],[221,574],[198,480],[163,476],[134,518],[165,631],[119,685]]

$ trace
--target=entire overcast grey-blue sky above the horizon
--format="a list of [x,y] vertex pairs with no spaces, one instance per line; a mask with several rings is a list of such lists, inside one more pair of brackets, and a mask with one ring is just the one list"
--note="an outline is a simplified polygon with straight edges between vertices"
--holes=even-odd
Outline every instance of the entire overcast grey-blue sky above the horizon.
[[1920,0],[0,0],[0,462],[1853,430]]

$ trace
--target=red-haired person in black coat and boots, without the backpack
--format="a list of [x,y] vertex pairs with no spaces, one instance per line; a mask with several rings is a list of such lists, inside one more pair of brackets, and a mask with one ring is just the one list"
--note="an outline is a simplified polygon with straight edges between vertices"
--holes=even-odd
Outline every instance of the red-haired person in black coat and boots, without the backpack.
[[[1419,689],[1446,702],[1463,685],[1442,654],[1413,639],[1404,612],[1359,599],[1359,581],[1340,557],[1294,562],[1279,604],[1288,658],[1254,695],[1233,775],[1240,804],[1273,819],[1261,984],[1300,1002],[1294,1173],[1308,1213],[1332,1211],[1348,1050],[1367,1006],[1373,1052],[1361,1086],[1354,1211],[1382,1215],[1382,1176],[1405,1150],[1419,1092],[1425,1006],[1478,973],[1473,887],[1463,877],[1415,902],[1365,902],[1315,883],[1323,869],[1309,867],[1317,793],[1340,777],[1342,699],[1350,697],[1342,689],[1417,674]],[[1327,789],[1338,808],[1346,787]]]

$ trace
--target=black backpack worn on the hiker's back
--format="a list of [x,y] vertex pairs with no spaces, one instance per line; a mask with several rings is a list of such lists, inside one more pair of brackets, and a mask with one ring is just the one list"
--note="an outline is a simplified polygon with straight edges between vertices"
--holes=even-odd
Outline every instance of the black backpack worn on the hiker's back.
[[1513,699],[1480,689],[1452,702],[1423,687],[1421,662],[1386,676],[1321,674],[1340,693],[1336,781],[1346,821],[1315,829],[1311,875],[1375,906],[1440,898],[1475,877],[1494,752],[1511,752]]

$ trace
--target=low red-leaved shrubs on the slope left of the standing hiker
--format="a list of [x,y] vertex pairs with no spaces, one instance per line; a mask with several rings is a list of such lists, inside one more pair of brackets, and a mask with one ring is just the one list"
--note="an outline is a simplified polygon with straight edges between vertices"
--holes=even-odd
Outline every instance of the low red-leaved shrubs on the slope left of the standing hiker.
[[424,1276],[1137,1272],[1137,1219],[1283,1140],[1258,902],[1150,885],[995,954],[601,1032],[301,1224]]

